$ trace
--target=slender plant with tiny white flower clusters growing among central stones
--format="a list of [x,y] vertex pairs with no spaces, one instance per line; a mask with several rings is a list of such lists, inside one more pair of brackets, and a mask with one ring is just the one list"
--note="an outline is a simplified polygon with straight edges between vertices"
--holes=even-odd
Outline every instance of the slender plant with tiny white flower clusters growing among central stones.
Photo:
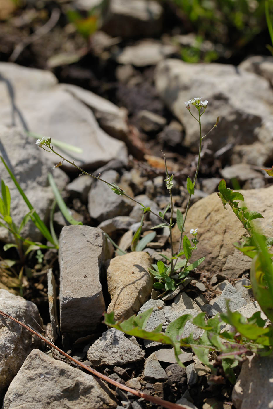
[[[150,207],[146,207],[142,203],[137,201],[136,199],[128,196],[123,191],[123,189],[118,187],[116,184],[109,183],[106,180],[103,180],[102,178],[100,178],[100,175],[97,177],[97,176],[91,175],[90,173],[87,173],[86,171],[81,169],[79,166],[75,165],[74,161],[71,162],[70,160],[66,159],[64,156],[57,153],[52,147],[52,140],[51,140],[50,137],[42,137],[42,138],[36,140],[36,144],[40,148],[44,149],[45,151],[47,151],[49,153],[55,153],[57,156],[59,156],[62,159],[62,161],[59,162],[55,167],[61,166],[61,164],[64,161],[68,162],[69,164],[75,166],[81,172],[81,175],[86,174],[86,175],[89,175],[90,177],[92,177],[92,178],[94,178],[96,180],[100,180],[101,182],[106,183],[109,186],[109,188],[115,194],[125,196],[126,198],[129,198],[129,199],[133,200],[134,202],[136,202],[137,204],[139,204],[142,207],[143,213],[150,212],[150,213],[154,214],[155,216],[157,216],[161,220],[161,223],[159,225],[156,225],[155,227],[152,227],[152,229],[157,229],[157,228],[161,228],[161,227],[166,227],[166,228],[169,229],[170,242],[171,242],[171,257],[168,257],[168,256],[166,256],[164,254],[162,254],[162,256],[165,258],[165,260],[167,262],[170,263],[170,265],[165,265],[163,262],[160,262],[160,263],[157,263],[157,265],[153,265],[152,266],[153,268],[149,270],[150,274],[152,274],[155,277],[155,279],[157,279],[157,282],[154,284],[154,288],[157,289],[157,290],[162,290],[164,292],[166,292],[168,290],[174,290],[175,287],[177,285],[179,285],[180,283],[182,283],[182,281],[188,276],[188,274],[189,274],[189,272],[191,270],[196,268],[198,265],[200,265],[200,263],[202,263],[202,261],[205,260],[205,257],[202,257],[199,260],[195,261],[194,263],[189,264],[192,253],[196,249],[196,246],[198,244],[198,239],[197,239],[197,230],[198,229],[191,229],[190,233],[193,234],[193,238],[191,239],[191,241],[189,240],[189,238],[186,235],[183,235],[184,224],[185,224],[185,221],[186,221],[186,218],[187,218],[187,213],[188,213],[188,210],[189,210],[191,196],[194,194],[194,187],[195,187],[195,184],[196,184],[196,179],[197,179],[197,175],[198,175],[198,171],[199,171],[199,167],[200,167],[202,139],[204,139],[214,128],[216,128],[216,126],[218,125],[218,121],[219,121],[219,117],[218,117],[217,120],[216,120],[216,123],[209,130],[209,132],[206,135],[202,136],[201,116],[204,114],[204,112],[205,112],[205,110],[207,108],[208,101],[201,101],[201,99],[202,99],[202,97],[196,97],[194,99],[191,99],[191,100],[185,102],[186,108],[187,108],[187,110],[189,110],[189,113],[191,114],[191,116],[194,119],[196,119],[196,121],[198,121],[200,137],[199,137],[199,151],[198,151],[198,161],[197,161],[197,166],[196,166],[196,173],[195,173],[193,181],[191,181],[191,179],[189,177],[187,178],[187,191],[189,193],[189,199],[188,199],[188,202],[187,202],[187,208],[186,208],[186,212],[185,212],[184,217],[183,217],[181,211],[179,209],[177,210],[177,226],[178,226],[178,228],[179,228],[179,230],[181,232],[180,245],[179,245],[179,249],[178,249],[177,254],[175,254],[174,251],[173,251],[173,240],[172,240],[173,196],[172,196],[171,189],[173,187],[173,175],[170,176],[169,173],[168,173],[168,167],[167,167],[167,162],[166,162],[165,155],[164,155],[164,162],[165,162],[165,169],[166,169],[165,183],[166,183],[166,188],[168,189],[169,194],[170,194],[170,203],[167,205],[167,207],[163,211],[163,213],[160,211],[159,214],[157,215],[154,211],[152,211],[150,209]],[[192,114],[191,106],[194,106],[197,109],[197,111],[198,111],[198,117],[197,118]],[[165,219],[165,214],[168,211],[168,209],[171,209],[170,222],[168,222]],[[150,233],[150,235],[148,234],[147,236],[144,236],[141,240],[139,240],[140,234],[141,234],[142,223],[143,223],[143,219],[141,221],[141,226],[139,227],[139,229],[134,234],[132,244],[131,244],[131,251],[141,251],[141,250],[145,249],[146,245],[149,243],[148,240],[151,241],[154,238],[154,235],[152,235],[152,233]],[[109,238],[108,235],[107,235],[107,237]],[[110,241],[118,249],[120,254],[125,254],[125,252],[123,252],[121,249],[119,249],[118,246],[113,242],[113,240],[111,240],[111,238],[110,238]],[[182,246],[183,246],[183,249],[182,249]],[[184,259],[178,260],[181,256],[184,256]]]

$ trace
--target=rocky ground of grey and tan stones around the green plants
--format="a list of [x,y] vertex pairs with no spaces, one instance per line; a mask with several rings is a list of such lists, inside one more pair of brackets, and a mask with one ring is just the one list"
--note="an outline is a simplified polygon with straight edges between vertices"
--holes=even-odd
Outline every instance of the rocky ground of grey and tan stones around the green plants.
[[[215,357],[211,360],[217,375],[212,375],[192,351],[182,350],[183,369],[166,345],[107,329],[102,314],[114,310],[115,318],[121,319],[153,308],[147,325],[152,330],[160,323],[166,328],[185,313],[196,316],[203,311],[213,317],[225,311],[225,299],[246,317],[259,310],[251,290],[244,287],[250,283],[250,261],[233,246],[244,230],[231,209],[223,209],[215,192],[221,178],[229,187],[243,189],[248,207],[264,216],[260,219],[264,233],[272,236],[273,187],[261,168],[273,164],[273,58],[246,52],[240,59],[230,47],[215,63],[184,62],[181,49],[193,40],[181,30],[175,32],[179,16],[173,7],[163,9],[150,1],[147,9],[142,0],[137,7],[133,7],[136,1],[112,0],[110,18],[86,45],[71,24],[64,24],[66,3],[48,2],[40,8],[29,4],[21,14],[8,11],[15,14],[1,23],[5,45],[0,42],[0,151],[46,223],[54,200],[47,177],[51,172],[71,215],[83,225],[69,225],[56,209],[59,251],[43,250],[41,258],[33,251],[11,269],[3,260],[16,258],[16,251],[4,252],[1,246],[0,310],[38,332],[46,329],[56,345],[112,380],[184,408],[271,407],[270,358],[241,362],[234,386]],[[80,11],[90,7],[88,2],[74,3]],[[48,18],[52,24],[48,32],[31,37]],[[16,49],[18,44],[21,49]],[[75,62],[68,64],[71,55]],[[118,184],[155,213],[169,202],[162,150],[174,175],[176,218],[177,209],[185,211],[186,180],[194,176],[198,151],[198,124],[184,101],[200,95],[209,101],[202,116],[203,134],[221,117],[204,139],[197,189],[185,225],[188,235],[198,228],[193,261],[206,259],[182,287],[159,297],[152,290],[148,268],[163,260],[160,254],[170,255],[168,230],[156,229],[143,252],[130,252],[143,214],[139,206],[102,182],[79,176],[66,162],[52,169],[59,158],[39,149],[35,139],[52,137],[61,155]],[[55,140],[81,151],[57,148]],[[27,207],[2,162],[0,175],[11,191],[11,215],[20,225]],[[146,215],[142,236],[158,223],[155,215]],[[120,255],[105,233],[126,254]],[[30,222],[22,235],[43,240]],[[179,237],[174,225],[175,250]],[[0,240],[3,244],[13,240],[3,227]],[[201,334],[187,324],[184,336],[191,332],[196,338]],[[4,318],[0,344],[0,396],[5,409],[23,403],[37,408],[157,407],[93,378],[71,362],[61,362],[27,330]]]

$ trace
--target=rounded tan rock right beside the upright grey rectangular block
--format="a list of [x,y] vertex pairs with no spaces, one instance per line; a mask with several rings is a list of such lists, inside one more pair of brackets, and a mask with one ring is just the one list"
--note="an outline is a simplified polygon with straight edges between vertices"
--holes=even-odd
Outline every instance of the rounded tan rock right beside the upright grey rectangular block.
[[151,258],[145,252],[132,252],[111,259],[107,268],[108,292],[114,319],[127,319],[139,312],[152,291],[152,277],[148,272]]

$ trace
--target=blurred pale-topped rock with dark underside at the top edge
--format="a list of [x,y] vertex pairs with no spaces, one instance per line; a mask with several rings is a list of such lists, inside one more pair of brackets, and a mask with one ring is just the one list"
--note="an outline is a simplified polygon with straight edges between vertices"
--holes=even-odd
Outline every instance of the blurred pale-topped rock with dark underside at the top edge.
[[162,15],[162,6],[154,0],[111,0],[102,30],[114,37],[153,37],[161,31]]

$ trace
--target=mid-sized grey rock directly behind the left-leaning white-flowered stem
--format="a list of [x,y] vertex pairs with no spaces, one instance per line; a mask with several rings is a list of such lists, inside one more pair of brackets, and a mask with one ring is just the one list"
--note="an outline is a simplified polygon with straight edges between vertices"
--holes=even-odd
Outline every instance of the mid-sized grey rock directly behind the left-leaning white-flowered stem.
[[[109,183],[118,182],[118,172],[106,171],[101,175],[101,179]],[[127,216],[134,207],[134,202],[121,195],[116,195],[109,186],[96,182],[88,195],[88,210],[91,217],[100,222],[114,218],[116,216]]]

